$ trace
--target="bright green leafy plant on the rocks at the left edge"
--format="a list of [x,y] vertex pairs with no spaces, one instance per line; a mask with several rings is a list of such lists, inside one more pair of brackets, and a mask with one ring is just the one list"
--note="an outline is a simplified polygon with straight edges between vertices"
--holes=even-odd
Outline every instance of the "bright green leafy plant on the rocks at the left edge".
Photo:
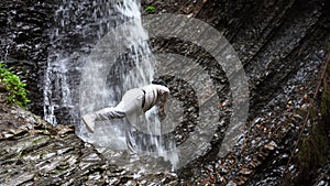
[[30,102],[28,99],[26,84],[22,83],[20,77],[11,73],[12,68],[6,68],[0,63],[0,81],[6,85],[9,91],[8,100],[12,103],[18,103],[20,107],[25,108]]

